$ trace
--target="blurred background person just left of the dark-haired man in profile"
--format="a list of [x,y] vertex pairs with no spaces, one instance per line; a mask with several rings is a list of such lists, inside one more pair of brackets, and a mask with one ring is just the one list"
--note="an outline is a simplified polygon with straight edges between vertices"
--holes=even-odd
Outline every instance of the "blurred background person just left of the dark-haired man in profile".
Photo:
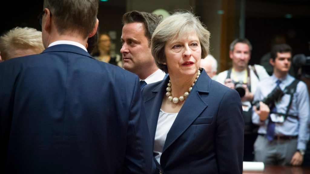
[[111,51],[111,38],[108,33],[99,35],[98,43],[92,53],[95,59],[123,67],[121,56]]

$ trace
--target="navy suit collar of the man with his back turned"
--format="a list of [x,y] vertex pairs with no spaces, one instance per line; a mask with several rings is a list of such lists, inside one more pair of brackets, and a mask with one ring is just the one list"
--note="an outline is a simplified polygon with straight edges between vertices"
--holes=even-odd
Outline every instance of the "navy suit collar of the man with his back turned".
[[50,46],[46,48],[42,53],[47,53],[47,52],[71,52],[71,53],[81,54],[83,56],[87,56],[91,59],[94,59],[93,57],[91,57],[91,55],[88,52],[86,52],[82,48],[78,46],[74,46],[74,45],[68,45],[68,44],[59,44],[55,46]]

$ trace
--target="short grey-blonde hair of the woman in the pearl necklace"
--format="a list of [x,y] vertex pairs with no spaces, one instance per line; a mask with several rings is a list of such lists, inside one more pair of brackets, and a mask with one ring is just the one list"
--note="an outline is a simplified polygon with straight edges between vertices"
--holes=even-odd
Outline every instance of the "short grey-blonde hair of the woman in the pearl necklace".
[[166,65],[165,45],[170,40],[180,40],[181,37],[195,32],[201,45],[201,59],[209,54],[210,32],[202,24],[199,18],[191,12],[176,12],[166,17],[155,29],[151,49],[156,65],[162,71],[168,73]]

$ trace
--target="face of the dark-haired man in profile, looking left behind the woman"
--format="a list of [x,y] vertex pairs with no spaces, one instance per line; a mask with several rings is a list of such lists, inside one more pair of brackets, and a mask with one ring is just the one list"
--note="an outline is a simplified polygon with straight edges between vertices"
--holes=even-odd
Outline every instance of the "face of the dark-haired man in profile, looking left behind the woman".
[[124,69],[140,76],[141,71],[148,69],[155,64],[148,45],[148,38],[145,37],[144,24],[134,22],[125,24],[122,30],[122,57]]

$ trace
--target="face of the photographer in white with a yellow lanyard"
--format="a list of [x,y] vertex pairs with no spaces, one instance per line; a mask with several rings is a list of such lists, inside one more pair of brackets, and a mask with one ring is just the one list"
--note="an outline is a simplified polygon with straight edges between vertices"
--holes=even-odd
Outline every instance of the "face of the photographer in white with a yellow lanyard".
[[243,71],[248,66],[251,58],[250,47],[245,43],[237,43],[233,51],[229,51],[229,57],[232,59],[233,67]]

